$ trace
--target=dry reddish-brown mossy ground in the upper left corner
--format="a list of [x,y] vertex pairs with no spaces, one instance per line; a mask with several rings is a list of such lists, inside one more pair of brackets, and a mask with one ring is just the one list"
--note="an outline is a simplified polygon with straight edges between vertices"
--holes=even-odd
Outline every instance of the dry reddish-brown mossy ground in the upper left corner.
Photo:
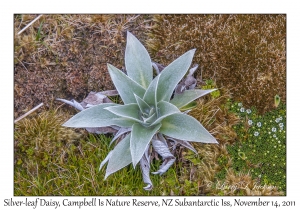
[[147,15],[35,15],[14,17],[15,117],[53,98],[82,100],[114,89],[107,63],[122,69],[126,31],[145,38]]

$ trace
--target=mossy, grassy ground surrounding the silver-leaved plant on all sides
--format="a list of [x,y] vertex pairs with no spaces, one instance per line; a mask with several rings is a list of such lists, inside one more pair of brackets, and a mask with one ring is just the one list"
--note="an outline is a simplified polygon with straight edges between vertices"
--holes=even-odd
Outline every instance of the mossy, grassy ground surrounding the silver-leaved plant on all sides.
[[[45,104],[15,123],[14,195],[286,194],[285,15],[43,15],[18,35],[35,17],[14,17],[15,118]],[[106,63],[124,67],[127,30],[164,65],[197,48],[198,88],[218,88],[189,114],[219,144],[178,146],[152,191],[132,166],[104,180],[112,136],[62,127],[76,112],[53,101],[113,89]]]

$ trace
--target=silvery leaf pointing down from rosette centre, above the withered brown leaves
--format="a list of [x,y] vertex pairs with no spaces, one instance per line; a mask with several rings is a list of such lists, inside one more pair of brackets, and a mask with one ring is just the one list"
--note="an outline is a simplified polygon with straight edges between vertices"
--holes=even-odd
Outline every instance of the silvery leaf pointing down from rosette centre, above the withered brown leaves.
[[132,126],[131,138],[130,138],[130,150],[132,156],[133,167],[141,160],[144,155],[149,142],[154,134],[158,131],[161,124],[154,127],[144,127],[139,123],[135,123]]

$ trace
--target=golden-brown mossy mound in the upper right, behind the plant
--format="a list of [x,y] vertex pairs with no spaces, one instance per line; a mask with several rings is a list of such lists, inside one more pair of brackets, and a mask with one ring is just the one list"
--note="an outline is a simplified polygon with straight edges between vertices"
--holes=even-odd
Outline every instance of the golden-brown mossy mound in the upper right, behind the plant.
[[[200,80],[212,78],[234,100],[263,114],[273,98],[286,97],[285,15],[155,15],[147,46],[152,59],[169,64],[196,48]],[[202,71],[202,72],[201,72]]]

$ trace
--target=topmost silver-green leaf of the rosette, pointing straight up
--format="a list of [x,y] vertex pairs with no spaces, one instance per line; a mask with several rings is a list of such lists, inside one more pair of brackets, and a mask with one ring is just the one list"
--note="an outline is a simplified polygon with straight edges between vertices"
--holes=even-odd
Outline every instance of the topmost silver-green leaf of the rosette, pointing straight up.
[[131,79],[144,88],[149,86],[153,78],[150,55],[142,43],[130,32],[127,32],[125,67]]

